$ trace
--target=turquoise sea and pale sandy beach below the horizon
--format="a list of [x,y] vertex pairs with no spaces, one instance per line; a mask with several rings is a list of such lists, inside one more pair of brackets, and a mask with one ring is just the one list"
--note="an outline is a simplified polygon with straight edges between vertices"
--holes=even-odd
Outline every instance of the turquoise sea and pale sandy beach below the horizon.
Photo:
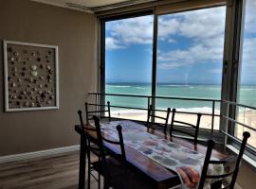
[[[137,95],[151,95],[151,84],[147,83],[111,83],[106,85],[106,94],[137,94]],[[221,86],[217,84],[168,84],[162,83],[156,86],[157,96],[172,96],[182,98],[198,98],[198,99],[214,99],[215,109],[214,113],[220,113]],[[240,103],[248,104],[256,107],[256,86],[242,86],[240,90]],[[129,96],[105,96],[106,101],[110,101],[114,106],[125,106],[132,108],[147,109],[148,99],[145,97],[129,97]],[[204,100],[181,100],[181,99],[156,99],[155,108],[157,110],[167,110],[167,108],[176,109],[178,112],[212,112],[212,102]],[[166,116],[166,112],[156,112],[156,115]],[[147,120],[147,111],[134,109],[119,109],[111,108],[111,116],[126,118],[132,120]],[[169,122],[171,122],[172,114],[170,114]],[[192,124],[196,122],[196,115],[176,113],[177,120],[186,121]],[[250,109],[238,110],[237,120],[252,128],[256,127],[256,112]],[[155,119],[156,122],[162,120]],[[213,129],[219,129],[219,117],[214,117]],[[202,115],[200,128],[211,129],[211,115]],[[248,144],[256,146],[256,133],[250,129],[242,126],[236,126],[235,135],[242,139],[243,131],[249,131],[251,137],[248,139]]]

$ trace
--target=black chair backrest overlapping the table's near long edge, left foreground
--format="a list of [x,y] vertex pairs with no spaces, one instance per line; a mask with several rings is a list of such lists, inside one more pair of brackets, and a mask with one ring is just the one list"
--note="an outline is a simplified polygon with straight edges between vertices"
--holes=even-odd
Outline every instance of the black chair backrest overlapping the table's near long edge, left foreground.
[[[111,145],[116,145],[120,147],[120,154],[117,154],[115,157],[120,157],[122,161],[126,160],[126,155],[125,155],[125,149],[124,149],[124,144],[123,144],[123,137],[122,137],[122,132],[121,132],[121,126],[117,126],[117,130],[119,133],[119,141],[112,141],[110,139],[104,138],[104,136],[101,133],[101,125],[100,125],[100,119],[97,116],[94,116],[94,122],[95,122],[95,127],[97,131],[97,137],[98,137],[98,144],[100,146],[101,150],[101,162],[105,163],[106,161],[106,154],[105,154],[105,147],[104,144],[111,144]],[[102,164],[105,165],[105,164]]]

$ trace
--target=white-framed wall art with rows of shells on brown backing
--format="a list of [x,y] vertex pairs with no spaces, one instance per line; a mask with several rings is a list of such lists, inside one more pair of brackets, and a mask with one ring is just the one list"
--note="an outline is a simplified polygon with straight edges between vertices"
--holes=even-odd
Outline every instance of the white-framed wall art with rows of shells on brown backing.
[[59,109],[58,46],[3,42],[5,111]]

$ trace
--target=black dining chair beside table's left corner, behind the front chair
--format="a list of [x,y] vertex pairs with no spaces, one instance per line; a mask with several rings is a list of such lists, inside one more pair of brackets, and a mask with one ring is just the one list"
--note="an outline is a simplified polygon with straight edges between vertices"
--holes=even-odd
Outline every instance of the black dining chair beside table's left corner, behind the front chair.
[[[84,139],[86,140],[85,141],[85,144],[86,144],[86,154],[87,154],[87,164],[88,164],[88,168],[87,168],[87,187],[88,189],[90,189],[90,185],[91,185],[91,177],[93,177],[95,180],[98,181],[98,188],[100,189],[101,188],[101,175],[100,173],[98,173],[98,178],[96,178],[93,174],[92,174],[92,171],[94,170],[93,168],[93,165],[92,165],[92,159],[91,159],[91,153],[96,156],[98,158],[98,161],[100,159],[100,154],[101,154],[101,150],[100,150],[100,147],[99,147],[99,144],[98,144],[98,140],[97,138],[93,137],[92,136],[92,133],[95,133],[95,136],[97,136],[97,131],[95,128],[88,128],[87,126],[88,125],[84,125],[83,124],[83,118],[82,118],[82,111],[78,111],[78,114],[79,114],[79,118],[80,118],[80,123],[81,123],[81,126],[84,130],[84,134],[85,134],[85,137]],[[89,132],[91,134],[89,134]]]

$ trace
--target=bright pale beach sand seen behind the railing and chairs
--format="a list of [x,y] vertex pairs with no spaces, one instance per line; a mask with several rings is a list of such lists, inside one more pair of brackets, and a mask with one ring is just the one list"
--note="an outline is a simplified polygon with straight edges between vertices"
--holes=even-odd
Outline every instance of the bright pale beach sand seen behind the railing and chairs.
[[[205,113],[210,113],[210,112],[205,112]],[[219,114],[219,110],[216,110],[215,113]],[[156,112],[155,114],[158,116],[162,116],[162,117],[166,116],[166,112]],[[131,120],[145,121],[145,122],[147,121],[147,111],[134,111],[134,110],[112,111],[111,116],[118,117],[118,118],[131,119]],[[171,119],[172,119],[172,113],[170,113],[169,124],[171,122]],[[194,114],[175,113],[175,119],[178,121],[185,121],[185,122],[195,124],[197,116]],[[256,111],[239,112],[238,121],[250,126],[251,128],[256,129]],[[156,118],[155,122],[163,123],[163,120]],[[220,122],[220,118],[218,116],[215,116],[213,129],[219,129],[219,122]],[[211,129],[211,116],[210,115],[202,115],[201,121],[200,121],[200,128]],[[248,139],[247,143],[250,146],[256,146],[256,132],[255,131],[238,125],[238,126],[236,126],[235,134],[238,138],[242,139],[244,131],[250,132],[250,138]]]

